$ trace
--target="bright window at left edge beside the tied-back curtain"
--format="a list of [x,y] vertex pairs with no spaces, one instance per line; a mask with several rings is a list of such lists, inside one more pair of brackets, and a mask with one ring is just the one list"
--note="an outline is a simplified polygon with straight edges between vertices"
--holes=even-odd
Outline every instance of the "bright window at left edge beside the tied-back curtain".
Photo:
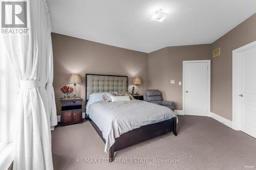
[[7,58],[0,35],[0,169],[7,169],[13,161],[13,139],[15,124],[13,105],[18,81],[14,67]]

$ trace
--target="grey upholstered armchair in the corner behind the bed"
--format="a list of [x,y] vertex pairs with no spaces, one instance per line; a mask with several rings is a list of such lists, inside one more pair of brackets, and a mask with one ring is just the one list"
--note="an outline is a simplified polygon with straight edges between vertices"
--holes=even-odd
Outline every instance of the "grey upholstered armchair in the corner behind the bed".
[[174,111],[174,102],[163,101],[159,90],[146,90],[143,94],[144,101],[168,107]]

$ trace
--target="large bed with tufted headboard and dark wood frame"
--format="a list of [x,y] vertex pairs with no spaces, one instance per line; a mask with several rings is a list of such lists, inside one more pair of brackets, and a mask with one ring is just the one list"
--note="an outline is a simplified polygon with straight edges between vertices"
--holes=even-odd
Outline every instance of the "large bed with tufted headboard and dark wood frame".
[[177,115],[169,108],[138,100],[90,101],[92,96],[99,98],[102,93],[127,91],[127,76],[86,74],[85,77],[86,118],[105,143],[109,162],[113,161],[114,152],[139,142],[168,132],[177,136]]

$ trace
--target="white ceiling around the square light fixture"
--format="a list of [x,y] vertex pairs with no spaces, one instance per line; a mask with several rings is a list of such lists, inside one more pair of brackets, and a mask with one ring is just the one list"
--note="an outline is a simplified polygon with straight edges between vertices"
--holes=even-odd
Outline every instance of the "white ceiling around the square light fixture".
[[[48,0],[53,32],[140,52],[212,43],[256,12],[255,0]],[[154,12],[168,12],[163,22]]]

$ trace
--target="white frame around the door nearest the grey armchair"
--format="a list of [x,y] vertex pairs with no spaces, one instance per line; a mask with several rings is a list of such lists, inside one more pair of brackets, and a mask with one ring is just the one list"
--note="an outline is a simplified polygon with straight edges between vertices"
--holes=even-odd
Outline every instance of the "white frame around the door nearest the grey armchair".
[[200,63],[200,62],[207,62],[207,66],[208,66],[208,85],[209,85],[209,108],[208,108],[208,116],[210,116],[210,60],[190,60],[190,61],[183,61],[183,85],[182,85],[182,110],[183,110],[183,114],[186,115],[185,113],[185,63]]

